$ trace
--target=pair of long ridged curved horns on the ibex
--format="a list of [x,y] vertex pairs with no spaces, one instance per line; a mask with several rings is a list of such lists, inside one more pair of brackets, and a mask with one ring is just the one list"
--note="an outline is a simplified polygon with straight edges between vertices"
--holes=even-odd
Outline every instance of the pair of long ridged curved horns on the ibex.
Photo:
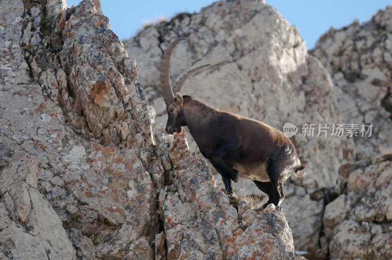
[[211,66],[211,64],[205,64],[191,71],[188,71],[178,80],[174,88],[172,88],[172,84],[170,83],[170,59],[172,57],[172,52],[174,47],[182,40],[187,40],[187,38],[178,38],[175,41],[173,41],[170,47],[166,50],[165,55],[163,56],[163,61],[161,65],[161,88],[162,88],[162,94],[163,94],[163,98],[165,99],[166,105],[173,102],[175,93],[179,93],[179,94],[182,93],[185,84],[193,75],[195,75],[198,71],[200,71],[204,67]]

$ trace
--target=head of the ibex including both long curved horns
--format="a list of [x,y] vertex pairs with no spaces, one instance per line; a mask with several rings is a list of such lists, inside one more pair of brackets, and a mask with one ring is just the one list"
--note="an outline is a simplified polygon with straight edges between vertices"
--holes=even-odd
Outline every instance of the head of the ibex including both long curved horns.
[[[183,111],[184,99],[181,95],[185,84],[197,71],[204,67],[211,66],[210,64],[206,64],[188,71],[178,80],[174,88],[172,88],[172,84],[170,83],[170,59],[174,47],[182,40],[186,40],[186,38],[178,38],[172,42],[163,56],[161,65],[161,90],[166,103],[166,111],[168,112],[166,132],[170,135],[175,132],[181,132],[182,127],[186,125]],[[173,93],[175,93],[175,95]]]

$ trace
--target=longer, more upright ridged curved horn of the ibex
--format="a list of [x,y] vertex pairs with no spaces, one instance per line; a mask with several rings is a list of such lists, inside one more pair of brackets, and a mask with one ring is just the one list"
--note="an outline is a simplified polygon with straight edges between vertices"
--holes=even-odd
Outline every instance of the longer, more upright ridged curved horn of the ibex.
[[163,99],[165,99],[166,105],[173,102],[173,90],[172,84],[170,84],[170,58],[172,57],[172,52],[174,47],[182,40],[187,40],[187,38],[178,38],[174,40],[170,47],[166,50],[163,56],[161,65],[161,91],[163,94]]

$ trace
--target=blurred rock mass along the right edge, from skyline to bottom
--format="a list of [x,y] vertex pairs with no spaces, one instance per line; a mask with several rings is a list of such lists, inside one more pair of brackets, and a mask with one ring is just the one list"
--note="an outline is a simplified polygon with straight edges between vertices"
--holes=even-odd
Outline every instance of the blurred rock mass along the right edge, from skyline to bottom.
[[373,124],[371,137],[354,138],[362,161],[342,166],[339,196],[325,207],[331,259],[391,258],[391,41],[388,6],[367,23],[331,28],[310,51],[332,76],[345,122]]

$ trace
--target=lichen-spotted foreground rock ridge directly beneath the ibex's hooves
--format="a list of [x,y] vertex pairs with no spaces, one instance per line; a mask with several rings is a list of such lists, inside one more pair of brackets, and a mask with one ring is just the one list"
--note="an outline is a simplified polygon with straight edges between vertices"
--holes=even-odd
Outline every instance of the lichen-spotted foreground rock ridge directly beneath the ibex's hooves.
[[172,185],[159,195],[168,259],[297,259],[283,211],[254,212],[246,225],[239,224],[237,210],[214,187],[205,163],[184,153],[186,146],[184,132],[176,134],[170,147]]

